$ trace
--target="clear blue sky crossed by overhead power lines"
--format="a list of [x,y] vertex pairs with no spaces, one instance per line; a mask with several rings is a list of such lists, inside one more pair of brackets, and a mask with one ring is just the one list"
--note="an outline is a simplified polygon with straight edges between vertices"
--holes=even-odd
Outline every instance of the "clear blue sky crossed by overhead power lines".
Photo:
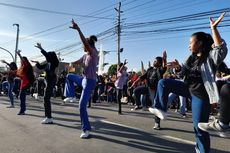
[[[160,56],[163,50],[167,51],[169,61],[175,58],[184,61],[190,53],[190,35],[197,31],[211,32],[209,15],[194,17],[194,14],[224,8],[229,11],[230,8],[229,0],[0,0],[0,47],[14,55],[16,27],[13,24],[18,23],[19,49],[29,59],[44,60],[34,47],[40,42],[45,49],[60,52],[66,62],[77,60],[84,52],[79,45],[79,36],[68,28],[74,18],[85,36],[111,29],[102,33],[97,47],[102,45],[103,50],[115,51],[117,12],[114,7],[118,2],[121,2],[123,11],[121,47],[124,51],[121,61],[127,59],[130,70],[139,70],[141,61],[147,67],[148,62]],[[214,17],[218,15],[213,14]],[[188,18],[181,19],[182,16]],[[230,12],[227,12],[226,21],[221,22],[223,27],[219,28],[227,44],[230,43],[229,17]],[[0,59],[12,60],[3,50]],[[228,55],[225,59],[228,66],[229,59]],[[107,54],[105,62],[117,63],[116,52]]]

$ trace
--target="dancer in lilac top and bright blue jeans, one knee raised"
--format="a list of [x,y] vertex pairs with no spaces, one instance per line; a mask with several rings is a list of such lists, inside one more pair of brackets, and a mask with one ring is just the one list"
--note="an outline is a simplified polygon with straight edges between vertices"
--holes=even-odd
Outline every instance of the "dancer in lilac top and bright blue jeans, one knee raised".
[[96,86],[96,71],[99,59],[98,52],[95,47],[97,37],[90,36],[90,38],[85,38],[79,26],[77,25],[77,23],[74,22],[74,20],[72,20],[72,26],[70,28],[78,31],[86,54],[84,54],[79,60],[71,63],[71,65],[83,64],[84,71],[83,76],[76,74],[68,74],[66,76],[64,96],[67,98],[64,99],[64,101],[73,101],[73,99],[75,99],[74,84],[82,86],[82,92],[79,101],[80,118],[82,126],[82,133],[80,135],[80,138],[88,138],[91,126],[89,123],[87,113],[87,103],[90,99],[92,91]]

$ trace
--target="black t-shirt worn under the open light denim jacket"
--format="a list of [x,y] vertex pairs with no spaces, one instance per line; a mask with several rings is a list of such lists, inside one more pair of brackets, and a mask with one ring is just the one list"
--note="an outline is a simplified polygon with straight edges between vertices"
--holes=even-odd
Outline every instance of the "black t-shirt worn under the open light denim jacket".
[[190,58],[189,63],[187,63],[187,68],[188,73],[186,74],[185,82],[188,84],[191,94],[202,100],[208,100],[209,97],[201,77],[197,56],[193,55]]

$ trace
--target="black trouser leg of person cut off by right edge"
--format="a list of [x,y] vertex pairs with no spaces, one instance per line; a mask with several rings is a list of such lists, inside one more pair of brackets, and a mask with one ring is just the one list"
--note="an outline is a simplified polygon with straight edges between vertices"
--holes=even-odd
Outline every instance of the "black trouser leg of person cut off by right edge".
[[226,125],[230,123],[230,84],[226,83],[220,90],[220,121]]

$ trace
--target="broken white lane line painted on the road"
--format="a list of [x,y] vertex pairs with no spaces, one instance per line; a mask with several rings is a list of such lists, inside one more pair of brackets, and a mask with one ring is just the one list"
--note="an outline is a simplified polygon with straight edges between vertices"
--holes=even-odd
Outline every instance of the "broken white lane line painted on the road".
[[[107,123],[107,124],[118,125],[118,126],[122,126],[122,127],[125,127],[125,128],[130,128],[130,129],[138,130],[138,131],[141,131],[141,132],[146,132],[146,131],[144,131],[143,129],[140,129],[140,128],[136,128],[136,127],[120,124],[120,123],[115,123],[115,122],[111,122],[111,121],[107,121],[107,120],[98,119],[97,121],[100,121],[102,123]],[[154,134],[156,134],[156,133],[154,133]],[[174,140],[174,141],[178,141],[178,142],[182,142],[182,143],[186,143],[186,144],[190,144],[190,145],[195,145],[195,142],[189,141],[189,140],[186,140],[186,139],[177,138],[177,137],[164,135],[164,134],[156,134],[156,135],[159,136],[159,137],[166,138],[166,139],[171,139],[171,140]]]

